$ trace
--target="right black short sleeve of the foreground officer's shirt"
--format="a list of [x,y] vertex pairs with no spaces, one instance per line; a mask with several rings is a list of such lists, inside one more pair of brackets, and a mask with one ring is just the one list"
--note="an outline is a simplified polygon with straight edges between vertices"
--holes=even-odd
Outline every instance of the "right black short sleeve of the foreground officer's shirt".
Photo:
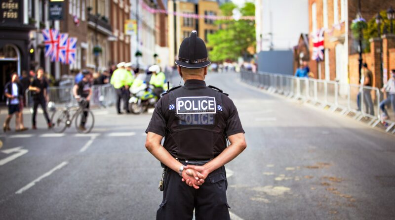
[[225,132],[227,136],[231,136],[237,133],[245,133],[243,127],[241,126],[240,118],[238,117],[238,112],[233,101],[226,95],[222,97],[223,106],[225,106],[225,120],[226,128]]

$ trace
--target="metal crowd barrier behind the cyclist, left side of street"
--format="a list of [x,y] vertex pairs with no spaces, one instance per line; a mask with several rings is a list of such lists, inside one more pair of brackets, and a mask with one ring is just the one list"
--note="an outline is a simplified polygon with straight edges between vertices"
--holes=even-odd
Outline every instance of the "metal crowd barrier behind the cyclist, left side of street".
[[[67,87],[49,87],[47,89],[48,99],[55,103],[56,106],[77,105],[77,100],[73,95],[73,86]],[[115,89],[110,84],[92,86],[92,96],[90,99],[91,106],[108,107],[115,103]],[[26,90],[26,106],[33,106],[32,92]]]

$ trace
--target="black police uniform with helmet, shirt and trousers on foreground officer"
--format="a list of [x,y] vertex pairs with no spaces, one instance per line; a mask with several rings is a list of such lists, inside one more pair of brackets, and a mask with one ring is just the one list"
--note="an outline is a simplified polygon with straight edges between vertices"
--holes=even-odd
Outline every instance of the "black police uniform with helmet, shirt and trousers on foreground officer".
[[[183,41],[179,56],[176,64],[186,68],[210,64],[196,32]],[[227,136],[244,131],[227,94],[204,81],[187,80],[160,98],[146,132],[164,136],[164,148],[182,164],[204,165],[227,147]],[[224,166],[211,172],[199,189],[188,186],[171,169],[165,169],[164,176],[157,220],[191,220],[194,209],[197,220],[230,219]]]

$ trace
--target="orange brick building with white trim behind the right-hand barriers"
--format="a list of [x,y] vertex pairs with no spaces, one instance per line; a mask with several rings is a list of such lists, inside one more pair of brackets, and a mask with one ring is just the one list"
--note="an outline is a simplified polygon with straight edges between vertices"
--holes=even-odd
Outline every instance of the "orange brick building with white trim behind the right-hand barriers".
[[[361,14],[370,20],[377,12],[395,5],[395,0],[360,0]],[[357,41],[351,34],[351,24],[356,18],[358,0],[309,0],[310,33],[324,28],[324,60],[310,61],[310,68],[318,79],[336,80],[344,84],[358,84]],[[310,54],[313,43],[310,38]],[[370,69],[378,66],[374,59],[364,54]],[[356,62],[355,62],[356,61]],[[380,86],[381,76],[376,71],[373,83]]]

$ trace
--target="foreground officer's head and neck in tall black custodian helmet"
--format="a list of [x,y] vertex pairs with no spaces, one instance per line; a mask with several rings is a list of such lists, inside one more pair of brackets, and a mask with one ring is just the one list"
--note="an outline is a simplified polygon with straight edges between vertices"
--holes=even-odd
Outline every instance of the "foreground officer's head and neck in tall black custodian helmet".
[[206,44],[197,37],[196,31],[192,31],[191,36],[181,43],[176,64],[180,76],[201,75],[204,79],[210,61]]

